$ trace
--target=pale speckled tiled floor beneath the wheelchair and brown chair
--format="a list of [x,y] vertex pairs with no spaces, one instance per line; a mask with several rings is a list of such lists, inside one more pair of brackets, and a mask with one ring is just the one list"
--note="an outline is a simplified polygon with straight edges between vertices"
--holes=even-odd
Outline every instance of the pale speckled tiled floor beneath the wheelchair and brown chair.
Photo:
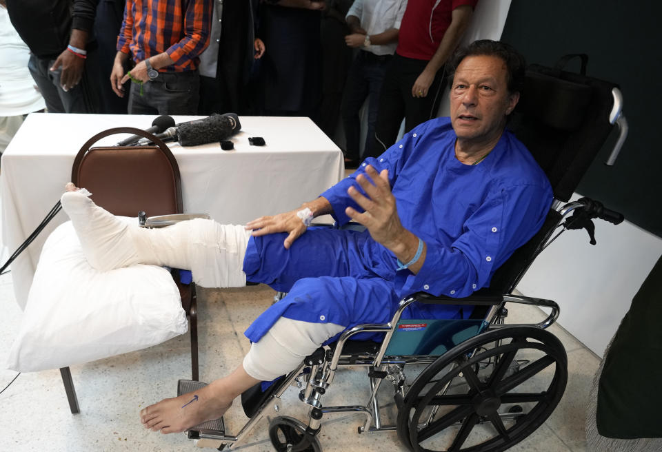
[[[237,367],[248,340],[243,330],[272,302],[265,286],[202,290],[199,297],[201,380],[209,381]],[[0,363],[21,322],[13,299],[11,275],[0,276]],[[512,307],[509,322],[543,318],[534,307]],[[512,451],[585,451],[584,419],[588,393],[599,359],[563,329],[552,326],[568,351],[569,378],[565,395],[552,416]],[[81,413],[72,415],[59,371],[23,373],[0,395],[0,451],[185,451],[194,449],[182,434],[161,435],[144,430],[138,411],[176,394],[179,378],[190,378],[190,342],[179,336],[150,349],[72,367]],[[3,366],[1,366],[3,367]],[[0,370],[0,389],[16,373]],[[327,403],[355,404],[365,399],[367,380],[361,369],[337,374]],[[385,385],[387,386],[387,385]],[[388,388],[385,388],[388,391]],[[388,393],[385,391],[385,396]],[[297,390],[289,389],[279,413],[303,419],[305,410]],[[246,421],[239,402],[230,409],[226,424],[237,433]],[[388,421],[388,420],[387,420]],[[394,432],[357,434],[360,415],[326,415],[319,436],[325,451],[405,450]],[[249,451],[270,451],[267,421],[250,438]],[[212,449],[208,449],[212,450]]]

